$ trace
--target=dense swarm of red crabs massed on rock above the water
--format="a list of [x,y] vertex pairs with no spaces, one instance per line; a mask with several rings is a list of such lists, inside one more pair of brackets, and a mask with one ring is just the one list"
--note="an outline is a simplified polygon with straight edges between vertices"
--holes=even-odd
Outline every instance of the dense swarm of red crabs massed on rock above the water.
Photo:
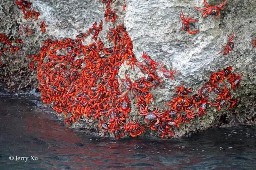
[[[114,24],[116,10],[110,8],[112,1],[103,2],[107,3],[106,21]],[[194,21],[188,16],[184,18],[183,14],[180,17],[184,22]],[[184,30],[189,31],[185,25]],[[102,21],[98,26],[94,23],[86,33],[79,33],[76,39],[48,39],[40,53],[29,56],[32,59],[29,68],[36,67],[37,70],[43,102],[52,104],[57,113],[64,113],[66,124],[93,119],[98,121],[104,133],[112,133],[116,138],[126,133],[132,137],[140,136],[146,127],[158,132],[160,137],[172,137],[175,127],[205,115],[207,107],[221,110],[225,106],[228,109],[235,106],[236,98],[232,98],[230,89],[236,90],[240,86],[242,75],[228,67],[212,72],[210,80],[196,93],[184,84],[176,86],[176,94],[165,104],[167,109],[150,108],[154,100],[151,90],[164,86],[164,78],[159,72],[170,80],[178,72],[168,70],[145,52],[142,54],[144,61],[138,61],[124,25],[109,29],[107,37],[112,42],[111,47],[105,47],[98,39],[100,31]],[[82,41],[88,36],[95,42],[83,45]],[[118,71],[124,62],[131,68],[138,67],[146,76],[131,80],[126,74],[118,82]],[[133,98],[144,123],[131,117]]]

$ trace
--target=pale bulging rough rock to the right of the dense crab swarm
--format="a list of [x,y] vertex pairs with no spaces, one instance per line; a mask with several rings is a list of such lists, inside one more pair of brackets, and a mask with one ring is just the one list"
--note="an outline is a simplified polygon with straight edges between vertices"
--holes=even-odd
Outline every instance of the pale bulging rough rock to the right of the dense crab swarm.
[[[209,4],[217,5],[216,1]],[[197,92],[208,81],[210,72],[232,66],[244,74],[241,87],[235,92],[238,106],[231,111],[208,111],[207,115],[196,118],[192,123],[177,129],[176,134],[184,135],[212,126],[255,124],[256,118],[256,50],[249,41],[255,37],[256,18],[252,11],[254,0],[233,0],[227,3],[220,18],[203,18],[194,5],[204,8],[202,0],[178,1],[136,1],[128,0],[125,26],[134,44],[134,53],[141,59],[146,51],[155,61],[161,61],[169,69],[179,70],[174,81],[165,80],[165,88],[154,90],[155,106],[162,106],[173,95],[174,84],[182,82]],[[180,11],[194,16],[199,21],[191,30],[200,32],[190,35],[181,30]],[[228,56],[217,55],[225,45],[227,34],[235,33],[234,50]],[[120,71],[122,72],[122,71]],[[133,80],[138,78],[136,74]]]

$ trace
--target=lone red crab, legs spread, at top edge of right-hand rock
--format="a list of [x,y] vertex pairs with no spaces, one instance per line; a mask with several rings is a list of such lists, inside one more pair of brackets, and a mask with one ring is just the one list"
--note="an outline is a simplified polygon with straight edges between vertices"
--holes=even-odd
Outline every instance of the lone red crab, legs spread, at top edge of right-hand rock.
[[199,11],[204,11],[202,13],[202,16],[204,18],[206,18],[207,16],[214,16],[214,18],[218,18],[220,17],[220,10],[224,10],[226,8],[226,3],[228,2],[228,0],[225,0],[224,2],[222,2],[221,4],[219,5],[215,5],[215,6],[210,6],[207,4],[206,0],[204,0],[204,6],[206,6],[206,8],[198,8],[195,6],[195,9],[196,10],[199,10]]

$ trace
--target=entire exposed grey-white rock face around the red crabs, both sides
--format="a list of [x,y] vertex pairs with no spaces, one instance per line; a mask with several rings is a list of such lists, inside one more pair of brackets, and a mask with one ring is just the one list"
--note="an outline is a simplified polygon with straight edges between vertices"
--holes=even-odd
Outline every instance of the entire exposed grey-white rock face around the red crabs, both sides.
[[[21,36],[24,44],[20,51],[2,57],[6,66],[0,68],[0,80],[7,84],[7,88],[15,91],[37,87],[36,72],[28,70],[29,60],[26,56],[38,53],[43,40],[74,38],[77,31],[84,32],[95,21],[104,20],[105,4],[100,0],[31,0],[33,8],[41,14],[36,22],[24,20],[22,11],[16,7],[15,2],[0,2],[0,33],[17,38],[22,25],[28,25],[34,31],[31,37]],[[210,0],[208,3],[216,5],[220,1]],[[202,12],[194,9],[195,5],[204,8],[203,0],[127,0],[126,11],[122,10],[123,5],[122,0],[116,0],[112,4],[112,8],[118,9],[116,25],[124,23],[133,41],[136,58],[142,61],[142,52],[145,51],[154,61],[162,62],[166,68],[180,72],[172,81],[165,78],[162,89],[151,91],[154,95],[152,108],[164,108],[164,103],[170,101],[174,94],[175,85],[184,83],[186,87],[197,92],[209,80],[210,72],[232,66],[235,72],[244,75],[240,88],[232,92],[238,98],[238,105],[234,109],[221,112],[209,109],[204,117],[196,117],[191,123],[176,128],[176,136],[215,126],[255,124],[256,49],[252,49],[250,41],[256,36],[256,1],[230,0],[217,19],[213,16],[203,18]],[[190,24],[190,29],[199,29],[199,33],[190,35],[181,30],[181,10],[185,15],[189,14],[199,20]],[[49,25],[45,34],[40,31],[42,20]],[[104,23],[103,31],[99,35],[105,44],[108,44],[106,33],[110,25]],[[235,33],[234,50],[228,56],[217,55],[228,40],[227,34],[232,32]],[[86,43],[91,42],[92,39],[86,39]],[[124,78],[125,72],[129,73],[132,80],[143,76],[138,68],[132,70],[130,66],[123,64],[119,70],[119,79]],[[132,105],[131,117],[142,122],[144,118],[137,111]],[[91,120],[75,123],[73,127],[90,134],[104,135],[98,130],[98,123]]]

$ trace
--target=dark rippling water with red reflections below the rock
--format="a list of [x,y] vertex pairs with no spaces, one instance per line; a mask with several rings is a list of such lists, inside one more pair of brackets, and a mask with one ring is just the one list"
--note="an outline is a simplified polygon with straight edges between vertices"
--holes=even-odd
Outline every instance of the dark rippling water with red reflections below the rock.
[[256,169],[256,127],[168,140],[96,138],[66,127],[34,95],[0,93],[0,131],[1,170]]

